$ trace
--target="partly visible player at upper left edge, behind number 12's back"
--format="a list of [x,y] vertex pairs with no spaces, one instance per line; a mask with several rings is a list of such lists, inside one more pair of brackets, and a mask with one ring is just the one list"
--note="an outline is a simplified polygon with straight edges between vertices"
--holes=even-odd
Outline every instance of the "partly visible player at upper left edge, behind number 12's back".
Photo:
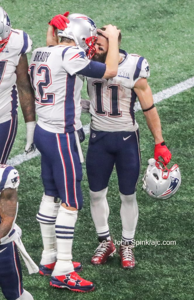
[[18,94],[27,130],[26,153],[34,152],[34,91],[28,75],[27,52],[32,41],[22,30],[11,29],[10,19],[0,7],[0,164],[5,164],[17,132]]

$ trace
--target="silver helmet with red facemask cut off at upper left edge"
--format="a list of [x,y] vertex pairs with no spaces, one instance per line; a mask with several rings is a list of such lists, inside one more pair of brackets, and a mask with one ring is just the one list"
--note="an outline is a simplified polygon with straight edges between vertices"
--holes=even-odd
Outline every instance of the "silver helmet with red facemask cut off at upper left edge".
[[0,6],[0,52],[7,45],[11,35],[10,19],[6,11]]

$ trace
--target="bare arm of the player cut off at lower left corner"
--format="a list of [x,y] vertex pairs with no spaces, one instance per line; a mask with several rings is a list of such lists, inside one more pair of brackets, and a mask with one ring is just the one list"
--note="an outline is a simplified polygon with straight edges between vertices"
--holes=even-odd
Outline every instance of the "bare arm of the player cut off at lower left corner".
[[0,239],[8,234],[17,212],[17,191],[7,188],[1,192],[0,196]]

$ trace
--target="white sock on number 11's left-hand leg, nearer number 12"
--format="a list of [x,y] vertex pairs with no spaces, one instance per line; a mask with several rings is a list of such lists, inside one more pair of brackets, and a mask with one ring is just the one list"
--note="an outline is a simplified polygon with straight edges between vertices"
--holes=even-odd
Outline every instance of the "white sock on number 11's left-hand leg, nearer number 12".
[[104,239],[110,240],[108,227],[109,207],[106,199],[107,190],[107,187],[99,192],[90,190],[90,211],[99,241]]

